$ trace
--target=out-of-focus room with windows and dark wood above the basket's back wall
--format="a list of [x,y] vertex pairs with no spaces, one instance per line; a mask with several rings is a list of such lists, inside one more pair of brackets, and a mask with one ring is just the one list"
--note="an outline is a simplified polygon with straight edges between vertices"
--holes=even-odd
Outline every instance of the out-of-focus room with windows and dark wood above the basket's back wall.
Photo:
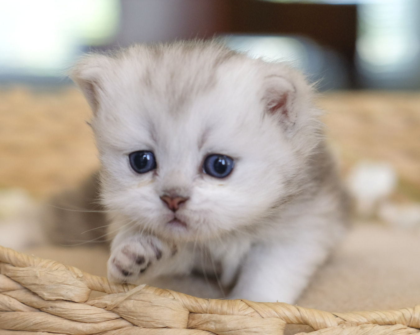
[[82,52],[228,36],[321,90],[415,89],[419,13],[416,0],[1,0],[0,82],[67,83]]

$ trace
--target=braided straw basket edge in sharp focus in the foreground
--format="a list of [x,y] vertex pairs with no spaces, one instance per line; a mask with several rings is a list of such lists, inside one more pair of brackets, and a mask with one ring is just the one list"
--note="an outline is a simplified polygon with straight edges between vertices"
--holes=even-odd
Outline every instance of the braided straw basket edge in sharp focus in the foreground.
[[[92,291],[108,294],[89,299]],[[0,335],[269,335],[283,334],[286,325],[307,325],[310,334],[323,335],[412,334],[420,331],[420,305],[329,313],[285,303],[201,299],[109,283],[0,246]]]

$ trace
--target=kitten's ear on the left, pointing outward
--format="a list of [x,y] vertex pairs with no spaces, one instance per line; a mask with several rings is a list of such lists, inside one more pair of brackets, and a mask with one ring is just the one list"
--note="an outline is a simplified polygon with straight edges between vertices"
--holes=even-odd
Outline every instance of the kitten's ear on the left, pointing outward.
[[94,115],[104,94],[105,70],[109,68],[110,61],[105,55],[87,55],[68,72],[71,80],[80,87]]

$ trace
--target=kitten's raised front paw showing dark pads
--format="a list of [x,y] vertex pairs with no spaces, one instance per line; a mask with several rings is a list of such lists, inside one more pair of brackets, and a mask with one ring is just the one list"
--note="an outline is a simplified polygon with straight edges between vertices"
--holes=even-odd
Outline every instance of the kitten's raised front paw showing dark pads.
[[155,236],[135,236],[125,240],[108,260],[108,279],[114,282],[135,282],[153,263],[176,253]]

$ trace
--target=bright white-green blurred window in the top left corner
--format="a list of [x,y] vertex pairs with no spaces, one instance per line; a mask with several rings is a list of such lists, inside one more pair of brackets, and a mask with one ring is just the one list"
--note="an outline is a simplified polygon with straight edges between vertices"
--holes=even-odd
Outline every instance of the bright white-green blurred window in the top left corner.
[[0,74],[59,75],[118,21],[118,0],[0,0]]

